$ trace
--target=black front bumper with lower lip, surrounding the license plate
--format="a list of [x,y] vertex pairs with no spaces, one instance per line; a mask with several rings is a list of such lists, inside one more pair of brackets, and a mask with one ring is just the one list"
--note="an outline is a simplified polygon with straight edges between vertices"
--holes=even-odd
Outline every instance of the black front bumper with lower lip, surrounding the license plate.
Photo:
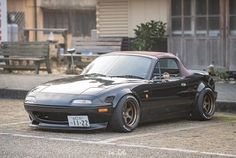
[[[31,127],[57,130],[95,130],[106,128],[112,116],[112,106],[49,106],[25,104],[25,109],[31,119]],[[100,108],[107,108],[108,112],[98,112]],[[70,127],[68,115],[87,115],[90,127]]]

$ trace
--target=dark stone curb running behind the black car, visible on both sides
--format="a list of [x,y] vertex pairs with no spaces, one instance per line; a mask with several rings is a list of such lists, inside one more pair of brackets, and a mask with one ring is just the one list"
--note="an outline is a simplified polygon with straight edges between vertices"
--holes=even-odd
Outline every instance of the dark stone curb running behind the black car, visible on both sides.
[[[25,99],[27,90],[0,89],[0,98],[5,99]],[[236,102],[216,101],[216,111],[236,113]]]

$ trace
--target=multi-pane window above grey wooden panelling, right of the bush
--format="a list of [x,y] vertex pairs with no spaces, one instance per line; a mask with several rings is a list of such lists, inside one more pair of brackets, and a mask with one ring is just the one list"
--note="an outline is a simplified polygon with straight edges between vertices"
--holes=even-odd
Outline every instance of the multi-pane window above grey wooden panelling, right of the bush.
[[172,35],[219,36],[219,0],[172,0]]

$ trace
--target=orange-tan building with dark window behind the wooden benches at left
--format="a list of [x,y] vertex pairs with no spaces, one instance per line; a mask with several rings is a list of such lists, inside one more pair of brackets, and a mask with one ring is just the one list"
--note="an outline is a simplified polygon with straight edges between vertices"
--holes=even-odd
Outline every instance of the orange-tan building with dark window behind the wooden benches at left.
[[[8,23],[18,25],[19,40],[24,40],[25,28],[66,28],[69,39],[90,36],[96,28],[96,0],[7,0],[7,9]],[[30,40],[47,40],[49,34],[30,32]],[[54,36],[59,42],[63,40],[60,34]]]

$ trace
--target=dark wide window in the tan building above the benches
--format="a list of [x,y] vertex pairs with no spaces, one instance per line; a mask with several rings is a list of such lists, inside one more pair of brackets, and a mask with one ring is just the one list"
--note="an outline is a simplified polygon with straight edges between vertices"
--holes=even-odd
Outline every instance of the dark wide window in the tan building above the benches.
[[95,10],[44,9],[43,17],[44,28],[67,28],[73,36],[90,36],[90,31],[96,28]]

